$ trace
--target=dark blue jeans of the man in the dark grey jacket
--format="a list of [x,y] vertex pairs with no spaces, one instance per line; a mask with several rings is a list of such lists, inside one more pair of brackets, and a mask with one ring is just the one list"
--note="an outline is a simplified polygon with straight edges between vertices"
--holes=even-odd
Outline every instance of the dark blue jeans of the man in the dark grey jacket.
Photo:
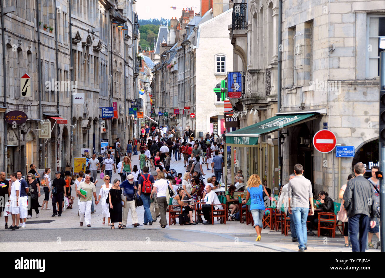
[[370,225],[369,216],[361,213],[356,214],[353,217],[349,217],[348,223],[352,251],[365,252],[368,239],[368,229]]

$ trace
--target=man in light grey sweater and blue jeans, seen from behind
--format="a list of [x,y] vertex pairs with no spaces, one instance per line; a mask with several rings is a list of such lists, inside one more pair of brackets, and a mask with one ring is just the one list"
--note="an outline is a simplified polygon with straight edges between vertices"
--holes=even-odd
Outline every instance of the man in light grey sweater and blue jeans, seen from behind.
[[301,164],[294,165],[294,174],[295,178],[291,179],[288,184],[289,213],[293,213],[295,232],[300,244],[298,251],[303,252],[308,249],[306,220],[309,214],[309,201],[310,215],[314,215],[313,193],[310,180],[302,175],[303,166]]

